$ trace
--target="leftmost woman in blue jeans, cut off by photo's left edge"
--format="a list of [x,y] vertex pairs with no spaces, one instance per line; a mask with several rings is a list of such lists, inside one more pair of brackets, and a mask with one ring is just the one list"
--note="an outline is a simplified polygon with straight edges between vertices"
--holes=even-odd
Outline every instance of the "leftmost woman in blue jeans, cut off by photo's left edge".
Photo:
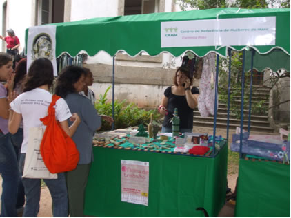
[[[11,86],[12,56],[0,52],[0,80],[8,80]],[[12,89],[8,89],[12,90]],[[9,101],[7,89],[0,83],[0,173],[3,179],[1,194],[1,217],[16,217],[17,186],[19,183],[19,168],[17,156],[8,132]]]

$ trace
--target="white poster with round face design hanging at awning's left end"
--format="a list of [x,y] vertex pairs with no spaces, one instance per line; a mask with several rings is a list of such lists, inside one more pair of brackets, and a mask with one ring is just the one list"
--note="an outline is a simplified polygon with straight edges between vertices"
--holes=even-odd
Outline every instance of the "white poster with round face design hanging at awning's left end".
[[37,58],[48,58],[57,76],[56,26],[35,26],[28,29],[27,69]]

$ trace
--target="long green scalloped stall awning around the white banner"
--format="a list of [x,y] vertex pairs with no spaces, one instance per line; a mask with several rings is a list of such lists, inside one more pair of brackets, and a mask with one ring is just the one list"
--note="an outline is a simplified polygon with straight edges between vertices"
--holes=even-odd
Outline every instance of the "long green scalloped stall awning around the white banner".
[[[190,21],[199,19],[229,19],[241,17],[276,16],[276,45],[255,46],[260,53],[270,52],[281,47],[290,54],[290,8],[239,9],[212,8],[183,12],[139,14],[120,17],[101,17],[75,22],[52,23],[57,25],[56,56],[68,52],[76,56],[81,50],[90,56],[103,50],[114,56],[117,51],[125,50],[130,56],[141,51],[156,56],[161,52],[170,52],[179,56],[186,50],[192,50],[198,56],[210,51],[226,56],[226,47],[167,47],[161,48],[161,22]],[[243,47],[234,47],[243,49]]]

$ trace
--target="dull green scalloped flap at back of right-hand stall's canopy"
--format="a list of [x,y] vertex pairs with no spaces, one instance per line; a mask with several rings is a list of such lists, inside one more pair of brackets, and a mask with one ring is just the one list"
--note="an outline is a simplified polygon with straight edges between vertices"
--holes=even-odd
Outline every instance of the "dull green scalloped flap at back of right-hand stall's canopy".
[[[245,71],[250,71],[252,66],[252,51],[245,52]],[[263,72],[265,68],[270,68],[272,71],[278,69],[286,69],[290,72],[290,55],[283,51],[273,50],[268,54],[259,54],[254,52],[253,69]]]

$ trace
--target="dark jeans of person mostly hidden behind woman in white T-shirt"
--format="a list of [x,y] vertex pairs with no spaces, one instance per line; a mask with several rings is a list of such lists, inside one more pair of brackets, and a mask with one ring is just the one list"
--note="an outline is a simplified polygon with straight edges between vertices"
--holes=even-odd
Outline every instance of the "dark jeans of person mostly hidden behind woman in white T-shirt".
[[[20,151],[21,151],[21,144],[23,141],[23,129],[19,128],[17,133],[11,134],[11,142],[12,145],[14,146],[14,150],[17,156],[17,161],[19,164],[19,159],[20,159]],[[18,193],[17,193],[17,203],[16,203],[16,208],[22,208],[25,202],[25,197],[24,197],[24,187],[21,181],[21,174],[19,171],[19,185],[18,185]]]

